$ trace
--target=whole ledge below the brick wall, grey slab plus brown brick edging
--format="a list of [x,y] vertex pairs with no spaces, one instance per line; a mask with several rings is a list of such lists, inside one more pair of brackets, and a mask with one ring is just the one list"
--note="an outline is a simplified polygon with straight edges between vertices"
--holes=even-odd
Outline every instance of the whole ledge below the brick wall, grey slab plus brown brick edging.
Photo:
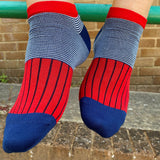
[[[7,111],[16,101],[20,84],[0,83],[0,146]],[[160,160],[160,94],[130,92],[127,119],[120,131],[105,139],[81,120],[79,88],[71,88],[65,113],[33,149],[7,154],[0,160]]]

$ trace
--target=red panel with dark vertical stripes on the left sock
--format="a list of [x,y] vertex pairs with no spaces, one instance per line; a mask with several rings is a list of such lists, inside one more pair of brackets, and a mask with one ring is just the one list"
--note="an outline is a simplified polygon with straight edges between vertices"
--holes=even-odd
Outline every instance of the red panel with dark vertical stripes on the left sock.
[[27,61],[22,87],[10,113],[45,113],[58,121],[68,101],[72,74],[73,69],[58,60]]

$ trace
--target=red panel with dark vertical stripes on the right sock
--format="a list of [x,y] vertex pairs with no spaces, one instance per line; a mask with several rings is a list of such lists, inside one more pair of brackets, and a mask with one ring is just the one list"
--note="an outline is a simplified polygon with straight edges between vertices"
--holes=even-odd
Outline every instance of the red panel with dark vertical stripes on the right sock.
[[80,99],[92,98],[101,104],[127,112],[132,68],[122,62],[95,58],[80,88]]

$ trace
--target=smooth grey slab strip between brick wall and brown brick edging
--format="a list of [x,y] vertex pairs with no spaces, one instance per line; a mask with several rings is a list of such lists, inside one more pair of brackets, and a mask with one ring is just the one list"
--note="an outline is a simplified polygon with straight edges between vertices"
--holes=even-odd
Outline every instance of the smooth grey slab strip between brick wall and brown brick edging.
[[[18,96],[21,84],[0,83],[0,113],[6,114]],[[79,88],[71,88],[69,101],[61,121],[82,123],[79,109]],[[124,128],[160,131],[160,93],[130,92]]]

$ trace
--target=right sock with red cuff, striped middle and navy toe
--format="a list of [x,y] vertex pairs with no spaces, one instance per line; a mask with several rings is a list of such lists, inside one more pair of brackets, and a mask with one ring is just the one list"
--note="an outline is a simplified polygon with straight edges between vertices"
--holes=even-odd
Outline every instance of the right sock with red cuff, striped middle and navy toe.
[[94,59],[79,99],[84,123],[102,137],[113,136],[124,123],[130,76],[145,25],[141,15],[112,7],[95,39]]

